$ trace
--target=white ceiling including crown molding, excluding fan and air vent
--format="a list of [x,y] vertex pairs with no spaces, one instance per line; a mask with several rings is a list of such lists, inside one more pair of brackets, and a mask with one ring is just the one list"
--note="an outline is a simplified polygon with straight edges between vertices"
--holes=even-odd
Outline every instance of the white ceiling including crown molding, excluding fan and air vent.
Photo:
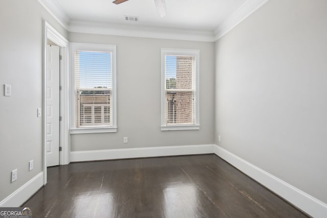
[[[165,38],[188,35],[186,40],[214,41],[226,31],[224,26],[240,22],[268,0],[166,0],[165,17],[160,17],[154,0],[120,5],[113,0],[38,1],[72,32],[150,37],[161,33]],[[138,21],[127,21],[125,15],[136,16]]]

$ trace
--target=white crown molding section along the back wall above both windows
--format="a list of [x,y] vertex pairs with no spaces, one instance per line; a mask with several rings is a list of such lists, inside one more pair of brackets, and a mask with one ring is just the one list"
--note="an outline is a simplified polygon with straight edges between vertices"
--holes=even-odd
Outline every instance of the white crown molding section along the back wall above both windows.
[[104,34],[116,36],[146,37],[158,39],[177,39],[189,41],[215,41],[212,31],[196,31],[172,28],[153,28],[136,25],[118,25],[115,23],[71,20],[69,32]]

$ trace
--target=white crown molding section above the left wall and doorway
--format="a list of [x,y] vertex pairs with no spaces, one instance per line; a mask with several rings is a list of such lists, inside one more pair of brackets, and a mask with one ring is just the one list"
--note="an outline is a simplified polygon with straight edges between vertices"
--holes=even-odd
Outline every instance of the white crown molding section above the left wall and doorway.
[[37,0],[46,11],[48,11],[60,25],[68,30],[69,21],[71,18],[62,10],[58,3],[54,0]]

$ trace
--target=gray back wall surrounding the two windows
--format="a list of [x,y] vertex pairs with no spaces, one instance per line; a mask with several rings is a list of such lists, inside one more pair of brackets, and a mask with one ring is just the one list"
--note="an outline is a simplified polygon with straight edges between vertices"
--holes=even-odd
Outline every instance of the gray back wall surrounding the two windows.
[[[214,43],[81,33],[69,33],[69,41],[117,49],[118,132],[72,135],[72,151],[214,142]],[[161,47],[200,50],[200,130],[160,130]],[[124,136],[128,143],[123,143]]]

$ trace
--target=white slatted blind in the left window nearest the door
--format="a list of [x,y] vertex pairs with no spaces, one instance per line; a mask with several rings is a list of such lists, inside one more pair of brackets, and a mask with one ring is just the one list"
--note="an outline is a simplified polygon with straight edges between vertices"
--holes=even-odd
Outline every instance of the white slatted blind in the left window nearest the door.
[[75,126],[112,127],[112,52],[75,51]]

